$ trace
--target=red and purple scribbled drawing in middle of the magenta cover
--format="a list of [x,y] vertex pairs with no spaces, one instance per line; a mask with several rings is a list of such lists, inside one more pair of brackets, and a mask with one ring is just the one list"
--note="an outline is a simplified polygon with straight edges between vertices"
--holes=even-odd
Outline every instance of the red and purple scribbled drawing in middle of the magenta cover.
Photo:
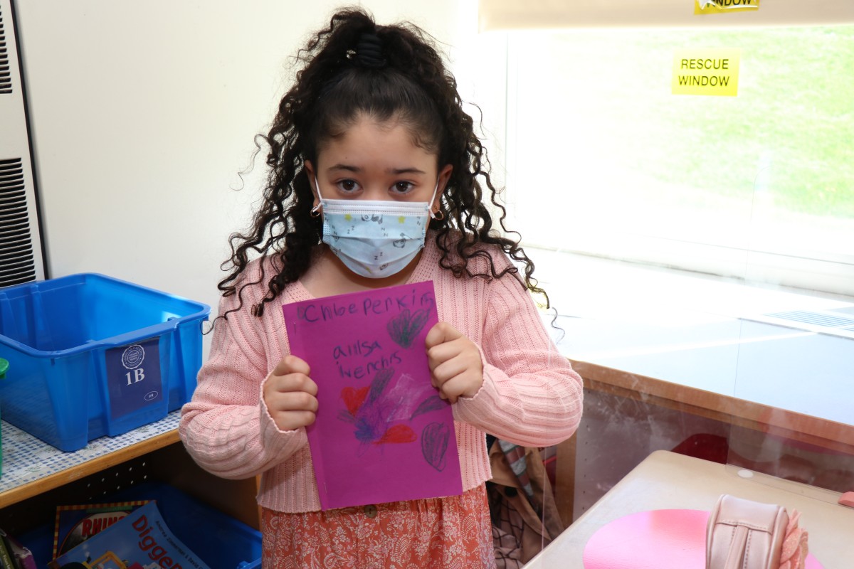
[[341,391],[346,409],[338,412],[338,419],[354,426],[354,437],[360,444],[359,456],[372,444],[414,443],[418,436],[407,423],[447,405],[432,386],[424,385],[412,375],[401,374],[392,383],[394,376],[394,368],[380,369],[370,386],[344,387]]

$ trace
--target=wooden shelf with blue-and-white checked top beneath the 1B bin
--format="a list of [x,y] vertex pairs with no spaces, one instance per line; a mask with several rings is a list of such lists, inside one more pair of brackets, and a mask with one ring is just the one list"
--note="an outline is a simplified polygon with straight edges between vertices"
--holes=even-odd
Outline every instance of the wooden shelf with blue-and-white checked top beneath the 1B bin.
[[98,502],[127,486],[157,481],[258,529],[257,479],[226,480],[202,470],[184,450],[177,424],[175,411],[131,433],[63,453],[4,422],[3,449],[13,452],[3,457],[0,527],[26,533],[52,523],[59,504]]

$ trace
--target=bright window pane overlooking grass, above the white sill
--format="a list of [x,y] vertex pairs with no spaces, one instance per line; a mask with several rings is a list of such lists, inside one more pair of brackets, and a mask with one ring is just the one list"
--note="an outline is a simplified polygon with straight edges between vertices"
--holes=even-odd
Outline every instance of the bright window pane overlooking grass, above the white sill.
[[[502,4],[482,0],[482,22],[512,20]],[[512,227],[528,246],[854,294],[851,7],[817,22],[783,2],[745,26],[617,4],[502,32]],[[739,49],[737,96],[672,94],[686,48]]]

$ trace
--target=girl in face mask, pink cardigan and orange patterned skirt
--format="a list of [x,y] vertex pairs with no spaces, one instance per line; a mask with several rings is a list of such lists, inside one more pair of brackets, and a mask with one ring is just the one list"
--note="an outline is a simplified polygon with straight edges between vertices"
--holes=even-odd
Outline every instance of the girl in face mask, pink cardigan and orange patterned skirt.
[[[263,136],[263,204],[251,232],[231,237],[181,438],[212,473],[261,475],[265,567],[492,567],[484,433],[528,446],[569,438],[581,380],[526,291],[541,292],[533,263],[494,230],[484,192],[500,229],[504,208],[485,152],[424,33],[345,10],[299,55],[304,67]],[[336,220],[354,206],[413,214],[422,229],[383,241],[361,224],[363,240],[336,241]],[[424,281],[440,320],[424,349],[433,386],[453,404],[464,493],[321,511],[305,428],[325,404],[315,397],[323,378],[290,355],[280,306]]]

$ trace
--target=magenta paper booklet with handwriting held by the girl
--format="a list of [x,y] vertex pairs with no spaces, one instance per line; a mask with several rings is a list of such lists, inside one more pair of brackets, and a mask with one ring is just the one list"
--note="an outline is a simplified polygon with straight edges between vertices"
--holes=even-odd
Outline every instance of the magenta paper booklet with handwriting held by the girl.
[[430,385],[432,282],[282,306],[318,385],[308,444],[323,509],[462,493],[451,405]]

